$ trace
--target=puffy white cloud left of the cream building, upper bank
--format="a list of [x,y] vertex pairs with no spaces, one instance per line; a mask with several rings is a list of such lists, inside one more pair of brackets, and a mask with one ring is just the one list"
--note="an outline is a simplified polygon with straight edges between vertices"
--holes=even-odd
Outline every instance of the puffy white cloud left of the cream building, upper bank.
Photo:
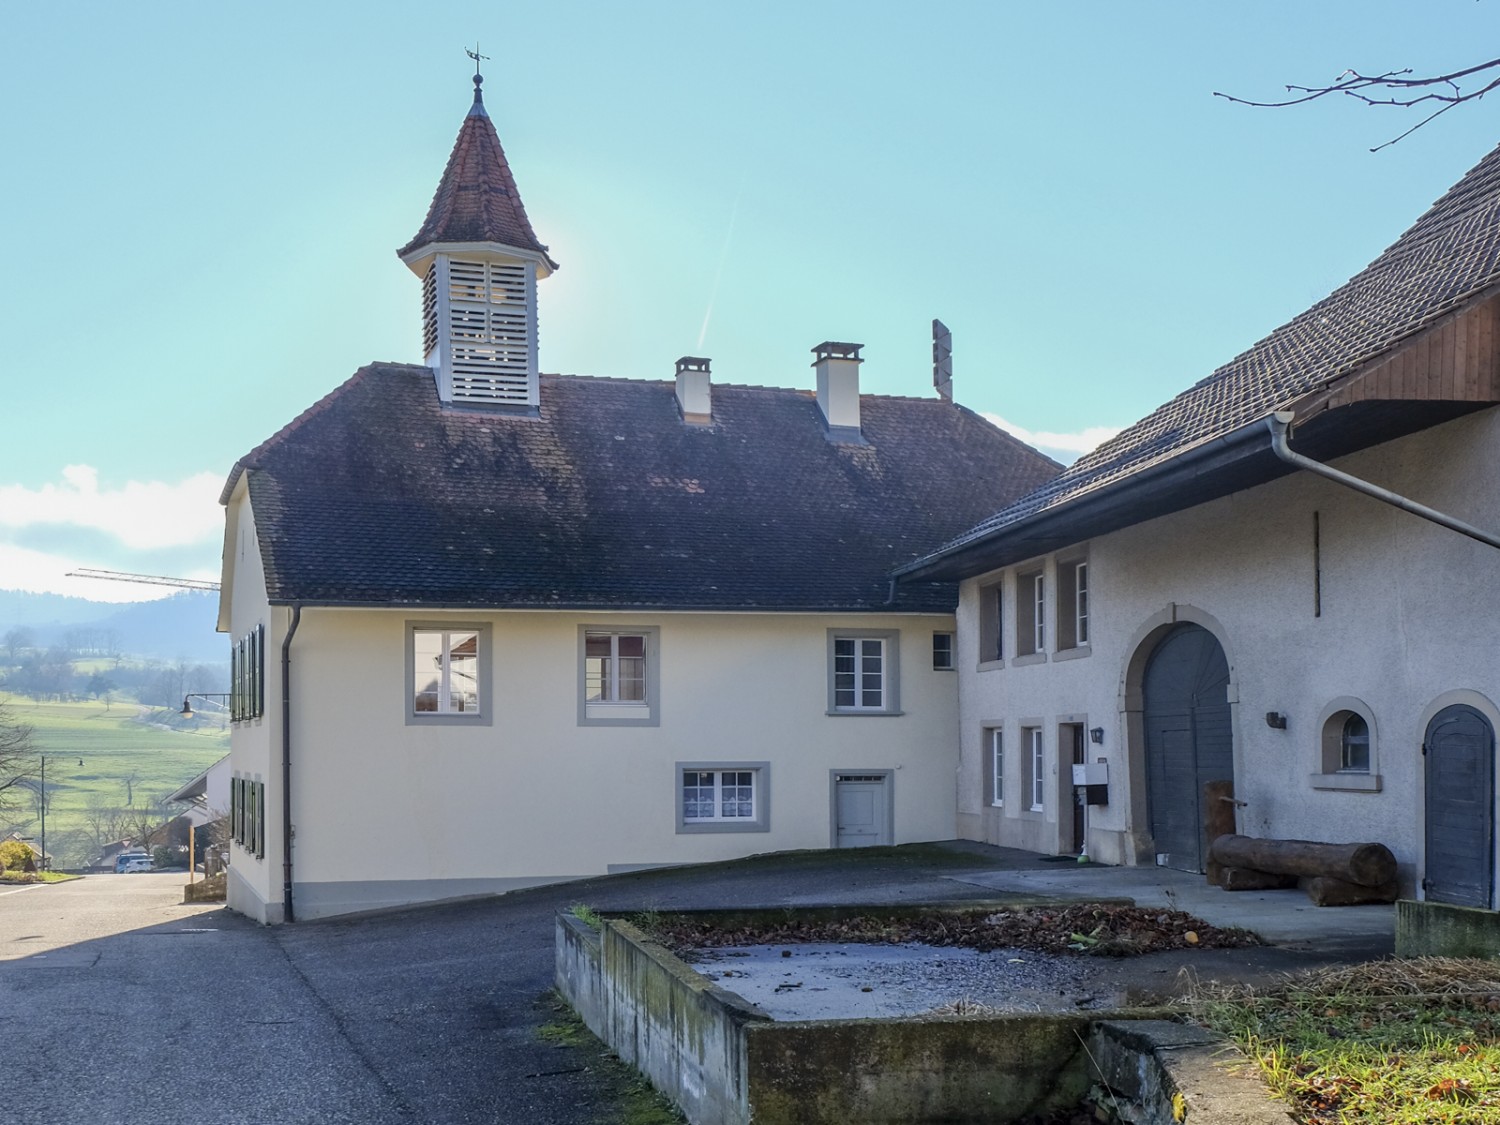
[[68,465],[60,482],[38,489],[0,484],[0,530],[87,528],[112,536],[129,550],[208,543],[224,528],[222,486],[219,474],[196,472],[177,483],[129,480],[102,489],[96,468]]

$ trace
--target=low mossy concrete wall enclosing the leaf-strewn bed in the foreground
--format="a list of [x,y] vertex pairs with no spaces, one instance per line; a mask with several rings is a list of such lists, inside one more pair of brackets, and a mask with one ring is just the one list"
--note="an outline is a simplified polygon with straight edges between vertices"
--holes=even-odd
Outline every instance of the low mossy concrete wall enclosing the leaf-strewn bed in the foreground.
[[[556,986],[584,1023],[693,1125],[1004,1125],[1076,1106],[1106,1080],[1168,1125],[1290,1119],[1233,1047],[1166,1020],[1074,1014],[771,1020],[634,926],[556,926]],[[1084,1050],[1084,1044],[1088,1048]],[[1228,1058],[1227,1058],[1228,1056]]]

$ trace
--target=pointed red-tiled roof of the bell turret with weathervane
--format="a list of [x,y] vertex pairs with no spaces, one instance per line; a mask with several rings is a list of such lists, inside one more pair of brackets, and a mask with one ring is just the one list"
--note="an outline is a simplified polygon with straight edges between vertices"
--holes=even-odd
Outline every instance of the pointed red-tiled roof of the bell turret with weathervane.
[[506,150],[484,112],[483,81],[474,75],[474,106],[453,142],[453,154],[442,170],[428,219],[398,254],[408,260],[422,246],[434,243],[488,242],[532,250],[542,255],[548,270],[555,270],[556,262],[531,230],[516,178],[506,162]]

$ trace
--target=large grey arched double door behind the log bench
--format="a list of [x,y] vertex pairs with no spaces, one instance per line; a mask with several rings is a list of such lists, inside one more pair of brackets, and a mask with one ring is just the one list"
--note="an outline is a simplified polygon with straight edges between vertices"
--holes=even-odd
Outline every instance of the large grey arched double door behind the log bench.
[[1146,663],[1142,702],[1156,862],[1202,872],[1203,784],[1234,777],[1228,660],[1218,639],[1202,626],[1174,626]]

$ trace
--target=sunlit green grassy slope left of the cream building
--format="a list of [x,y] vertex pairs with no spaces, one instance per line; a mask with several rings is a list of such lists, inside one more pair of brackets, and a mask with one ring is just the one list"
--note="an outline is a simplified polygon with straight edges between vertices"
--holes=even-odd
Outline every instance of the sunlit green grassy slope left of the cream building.
[[[0,693],[12,717],[33,728],[46,754],[46,844],[56,867],[76,867],[99,843],[90,807],[144,808],[230,752],[219,718],[182,720],[172,710],[134,702],[33,702]],[[36,802],[0,813],[0,836],[36,836]]]

